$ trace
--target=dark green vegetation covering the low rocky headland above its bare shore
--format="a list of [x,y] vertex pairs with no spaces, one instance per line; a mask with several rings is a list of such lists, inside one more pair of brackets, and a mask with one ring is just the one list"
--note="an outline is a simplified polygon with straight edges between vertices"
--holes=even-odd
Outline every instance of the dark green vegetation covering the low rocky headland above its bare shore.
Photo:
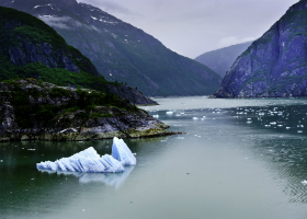
[[[35,79],[24,81],[31,88],[25,88],[26,85],[21,80],[11,79],[3,81],[10,87],[10,91],[0,92],[1,102],[8,101],[14,107],[15,122],[21,128],[33,128],[35,123],[48,125],[56,116],[69,115],[70,113],[83,120],[113,116],[111,113],[91,113],[98,106],[112,106],[126,112],[139,112],[136,106],[111,93],[53,88],[53,84],[44,83],[42,80],[37,82]],[[42,101],[43,99],[45,101]],[[53,103],[46,101],[49,99],[53,100]],[[60,104],[57,104],[58,102]]]

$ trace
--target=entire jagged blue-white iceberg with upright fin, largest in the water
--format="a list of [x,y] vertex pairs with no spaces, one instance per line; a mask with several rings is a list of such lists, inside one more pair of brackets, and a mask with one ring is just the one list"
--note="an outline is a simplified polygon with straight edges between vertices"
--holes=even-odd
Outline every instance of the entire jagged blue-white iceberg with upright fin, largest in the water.
[[69,158],[55,162],[36,163],[38,170],[69,171],[82,173],[118,173],[124,172],[124,165],[135,165],[136,158],[127,145],[118,138],[113,139],[112,155],[100,157],[92,148],[88,148]]

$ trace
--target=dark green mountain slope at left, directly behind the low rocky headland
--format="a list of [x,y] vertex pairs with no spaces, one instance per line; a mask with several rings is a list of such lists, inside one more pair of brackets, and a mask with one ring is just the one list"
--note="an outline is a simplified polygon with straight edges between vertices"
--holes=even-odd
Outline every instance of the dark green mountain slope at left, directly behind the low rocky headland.
[[0,80],[41,78],[112,92],[137,104],[156,103],[135,89],[107,82],[87,57],[31,14],[0,7]]

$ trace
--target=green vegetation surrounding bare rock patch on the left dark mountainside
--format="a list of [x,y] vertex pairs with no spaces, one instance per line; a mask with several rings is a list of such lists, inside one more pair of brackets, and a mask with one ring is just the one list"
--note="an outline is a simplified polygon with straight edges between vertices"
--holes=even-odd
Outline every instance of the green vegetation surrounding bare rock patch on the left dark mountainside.
[[[58,85],[75,85],[77,88],[91,88],[104,90],[107,81],[98,77],[98,72],[91,61],[78,49],[68,46],[65,39],[54,28],[43,21],[27,13],[13,9],[0,7],[0,80],[12,78],[41,78],[44,81]],[[48,68],[42,62],[30,61],[25,58],[26,65],[14,65],[10,60],[11,48],[19,48],[23,51],[23,43],[38,46],[49,44],[53,49],[45,56],[47,59],[56,59],[56,56],[69,57],[79,68],[80,72],[71,72],[57,64],[60,68]],[[37,53],[45,53],[39,51]],[[32,54],[31,56],[35,56]]]

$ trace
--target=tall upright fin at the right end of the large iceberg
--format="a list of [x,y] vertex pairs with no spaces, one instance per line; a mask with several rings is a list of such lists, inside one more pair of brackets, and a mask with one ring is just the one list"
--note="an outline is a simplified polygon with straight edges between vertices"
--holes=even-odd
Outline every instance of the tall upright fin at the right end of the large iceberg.
[[136,158],[123,139],[113,138],[112,157],[123,165],[136,165]]

